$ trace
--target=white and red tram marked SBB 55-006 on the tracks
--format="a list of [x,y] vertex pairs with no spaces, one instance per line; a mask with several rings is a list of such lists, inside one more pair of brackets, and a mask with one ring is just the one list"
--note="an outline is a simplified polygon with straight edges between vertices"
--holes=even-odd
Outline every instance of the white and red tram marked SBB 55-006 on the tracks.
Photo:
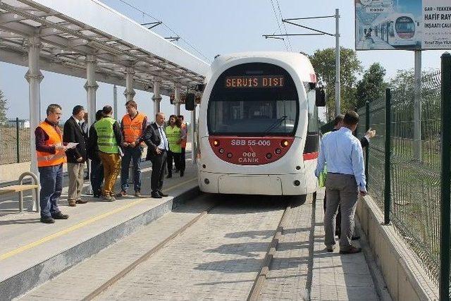
[[318,107],[324,92],[307,56],[218,56],[199,109],[199,188],[247,195],[316,192]]

